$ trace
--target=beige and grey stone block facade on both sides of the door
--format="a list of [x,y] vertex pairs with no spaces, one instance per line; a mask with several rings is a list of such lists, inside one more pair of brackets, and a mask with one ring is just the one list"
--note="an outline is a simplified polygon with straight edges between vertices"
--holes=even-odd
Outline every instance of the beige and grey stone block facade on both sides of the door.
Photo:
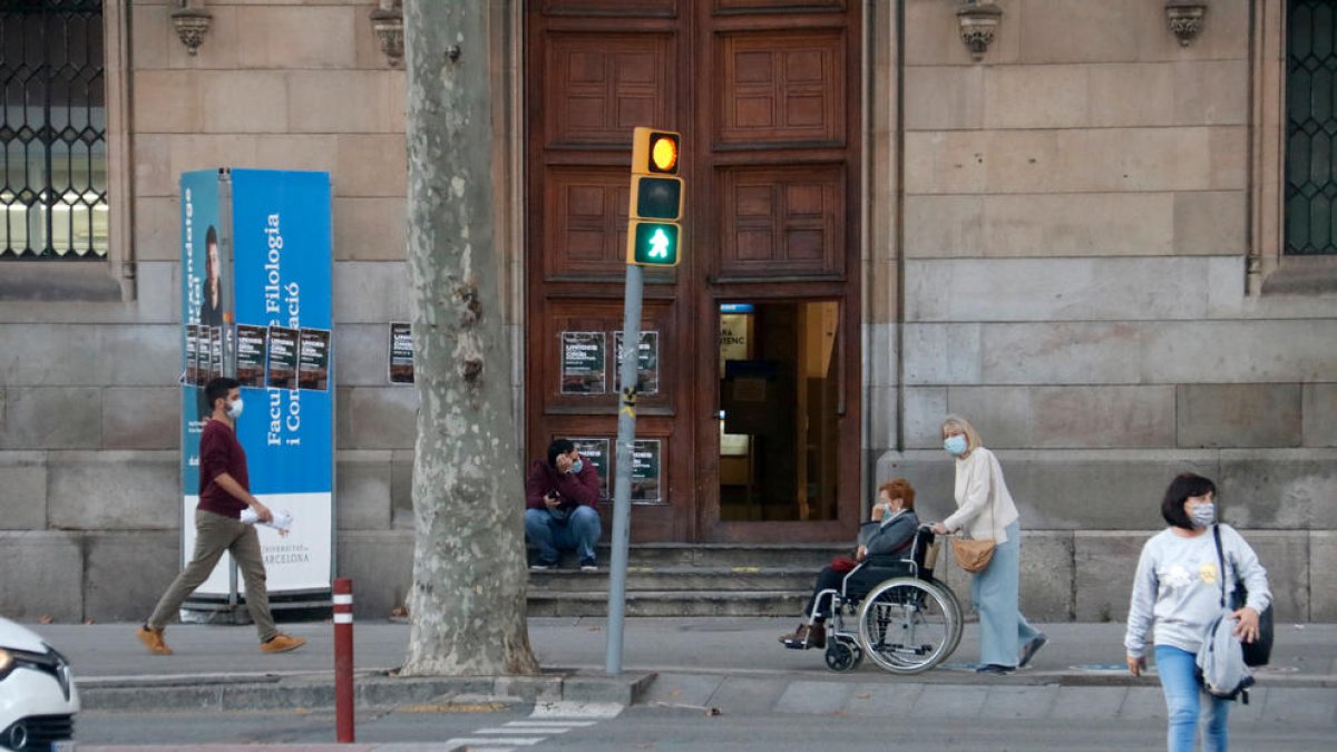
[[[1280,226],[1254,127],[1277,119],[1255,62],[1277,40],[1250,36],[1277,28],[1250,23],[1277,0],[1213,3],[1189,45],[1159,1],[1000,0],[979,63],[952,3],[902,4],[865,3],[869,480],[906,475],[921,516],[944,516],[937,424],[968,415],[1021,507],[1027,612],[1118,620],[1165,484],[1195,470],[1269,567],[1278,618],[1337,618],[1310,581],[1337,561],[1337,290],[1250,281],[1277,266],[1253,262]],[[405,78],[373,3],[210,0],[195,56],[174,1],[108,5],[126,19],[108,35],[134,39],[134,202],[114,218],[134,294],[90,301],[57,268],[45,300],[0,297],[0,612],[139,618],[176,571],[176,178],[227,165],[333,177],[337,566],[386,583],[358,593],[382,616],[408,587],[417,393],[385,384],[386,322],[408,318]],[[521,24],[496,7],[519,343]],[[517,356],[523,399],[521,375]]]

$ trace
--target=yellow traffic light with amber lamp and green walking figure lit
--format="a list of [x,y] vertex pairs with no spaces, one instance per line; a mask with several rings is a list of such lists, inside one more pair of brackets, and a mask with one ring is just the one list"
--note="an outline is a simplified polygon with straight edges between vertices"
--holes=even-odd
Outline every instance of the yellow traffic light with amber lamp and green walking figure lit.
[[682,250],[682,135],[638,127],[631,138],[627,264],[677,266]]

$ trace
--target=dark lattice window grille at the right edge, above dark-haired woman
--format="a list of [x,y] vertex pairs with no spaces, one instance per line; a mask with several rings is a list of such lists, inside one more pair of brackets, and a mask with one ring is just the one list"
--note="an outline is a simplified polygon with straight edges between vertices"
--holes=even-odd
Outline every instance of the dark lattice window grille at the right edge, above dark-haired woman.
[[1286,28],[1286,244],[1337,253],[1337,3],[1290,0]]

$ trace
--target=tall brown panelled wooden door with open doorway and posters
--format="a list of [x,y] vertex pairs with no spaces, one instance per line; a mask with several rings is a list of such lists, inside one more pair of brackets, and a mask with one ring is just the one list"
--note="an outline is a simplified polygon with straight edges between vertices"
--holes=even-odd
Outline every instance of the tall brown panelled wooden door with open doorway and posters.
[[[857,525],[858,7],[527,5],[525,444],[584,439],[610,491],[631,128],[683,132],[683,261],[646,274],[636,541],[828,541]],[[722,305],[753,306],[757,357],[726,363]],[[765,381],[749,368],[787,407],[746,442],[743,496],[769,502],[741,516],[721,408]],[[747,405],[730,404],[746,428]]]

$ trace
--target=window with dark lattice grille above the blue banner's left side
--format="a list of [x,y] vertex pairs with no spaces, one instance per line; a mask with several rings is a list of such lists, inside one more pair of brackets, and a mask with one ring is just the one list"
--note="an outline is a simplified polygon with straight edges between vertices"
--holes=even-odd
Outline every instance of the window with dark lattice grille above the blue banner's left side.
[[0,1],[0,258],[107,254],[102,0]]

